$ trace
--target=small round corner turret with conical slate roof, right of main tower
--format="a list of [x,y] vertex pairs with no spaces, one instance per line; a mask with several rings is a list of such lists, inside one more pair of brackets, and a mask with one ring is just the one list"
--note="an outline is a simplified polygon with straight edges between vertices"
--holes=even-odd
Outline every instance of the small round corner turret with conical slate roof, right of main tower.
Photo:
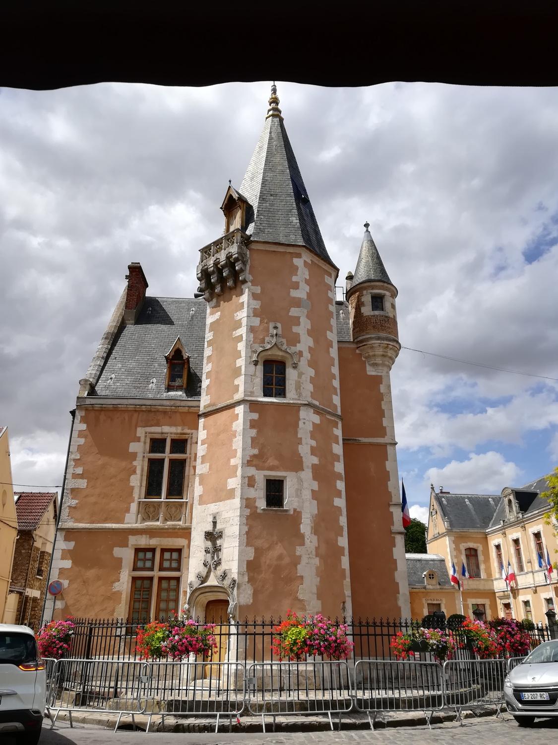
[[346,297],[353,341],[369,370],[384,375],[391,370],[401,349],[395,308],[397,288],[385,270],[369,227],[365,223],[359,260],[350,287],[347,282]]

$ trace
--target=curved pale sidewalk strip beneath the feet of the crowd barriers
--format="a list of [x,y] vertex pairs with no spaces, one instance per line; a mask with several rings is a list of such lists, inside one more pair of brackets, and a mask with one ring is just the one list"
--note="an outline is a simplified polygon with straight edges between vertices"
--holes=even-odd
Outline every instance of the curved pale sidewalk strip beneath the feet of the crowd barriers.
[[[496,714],[495,706],[484,706],[478,708],[475,713],[464,711],[464,719],[474,719],[475,717],[493,717]],[[60,712],[57,717],[58,722],[69,723],[69,714]],[[332,714],[333,726],[339,729],[339,715]],[[118,721],[117,714],[107,715],[100,712],[73,712],[72,720],[80,724],[92,724],[95,726],[115,729]],[[432,725],[442,722],[451,722],[455,720],[453,711],[435,711],[432,717]],[[135,714],[135,725],[138,729],[147,729],[148,717],[145,714]],[[173,717],[166,714],[164,717],[164,726],[161,723],[161,716],[153,714],[151,720],[150,732],[215,732],[216,717]],[[386,727],[414,727],[426,725],[426,717],[422,711],[389,711],[378,714],[375,729],[385,729]],[[45,728],[48,729],[48,721],[45,721]],[[133,729],[132,717],[130,714],[123,714],[120,721],[120,730]],[[275,717],[276,732],[324,732],[330,729],[330,720],[327,714],[321,716],[280,716]],[[368,729],[370,723],[366,714],[359,711],[351,711],[349,714],[341,714],[341,730]],[[228,717],[222,717],[219,722],[219,732],[228,733]],[[240,724],[233,717],[231,732],[242,734],[245,732],[262,732],[262,718],[251,714],[242,714]],[[266,732],[273,732],[273,718],[266,714]]]

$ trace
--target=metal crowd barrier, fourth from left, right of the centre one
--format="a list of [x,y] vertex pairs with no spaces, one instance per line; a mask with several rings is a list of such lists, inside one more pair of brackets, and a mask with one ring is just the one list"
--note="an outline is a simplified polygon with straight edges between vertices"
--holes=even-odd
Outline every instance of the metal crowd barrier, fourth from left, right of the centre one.
[[434,711],[444,706],[443,669],[438,662],[359,659],[354,701],[368,714],[371,729],[379,711],[423,711],[429,729]]

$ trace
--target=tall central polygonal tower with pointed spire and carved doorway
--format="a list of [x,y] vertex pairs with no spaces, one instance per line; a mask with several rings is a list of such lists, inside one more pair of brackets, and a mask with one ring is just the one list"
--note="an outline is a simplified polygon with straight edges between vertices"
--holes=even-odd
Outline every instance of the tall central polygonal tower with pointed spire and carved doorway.
[[350,614],[335,282],[275,85],[208,302],[187,606]]

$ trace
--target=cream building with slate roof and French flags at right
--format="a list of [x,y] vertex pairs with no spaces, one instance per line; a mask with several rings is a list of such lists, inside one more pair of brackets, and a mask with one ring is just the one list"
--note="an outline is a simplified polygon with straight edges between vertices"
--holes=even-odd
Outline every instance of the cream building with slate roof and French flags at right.
[[[461,612],[459,592],[446,582],[455,562],[460,580],[462,564],[471,576],[464,580],[465,615],[472,617],[477,610],[487,619],[513,616],[546,624],[545,612],[556,608],[558,574],[555,568],[549,584],[545,568],[539,568],[538,555],[546,563],[547,551],[556,567],[558,548],[556,525],[545,523],[548,501],[540,494],[547,489],[547,477],[521,488],[506,486],[501,495],[436,492],[432,486],[426,541],[431,557],[408,554],[407,559],[411,615],[421,618],[433,609],[446,615]],[[414,566],[418,559],[409,568],[410,556],[421,557],[424,577]],[[434,574],[443,574],[440,559],[446,577],[437,583]],[[501,578],[508,560],[517,577],[511,591]]]

